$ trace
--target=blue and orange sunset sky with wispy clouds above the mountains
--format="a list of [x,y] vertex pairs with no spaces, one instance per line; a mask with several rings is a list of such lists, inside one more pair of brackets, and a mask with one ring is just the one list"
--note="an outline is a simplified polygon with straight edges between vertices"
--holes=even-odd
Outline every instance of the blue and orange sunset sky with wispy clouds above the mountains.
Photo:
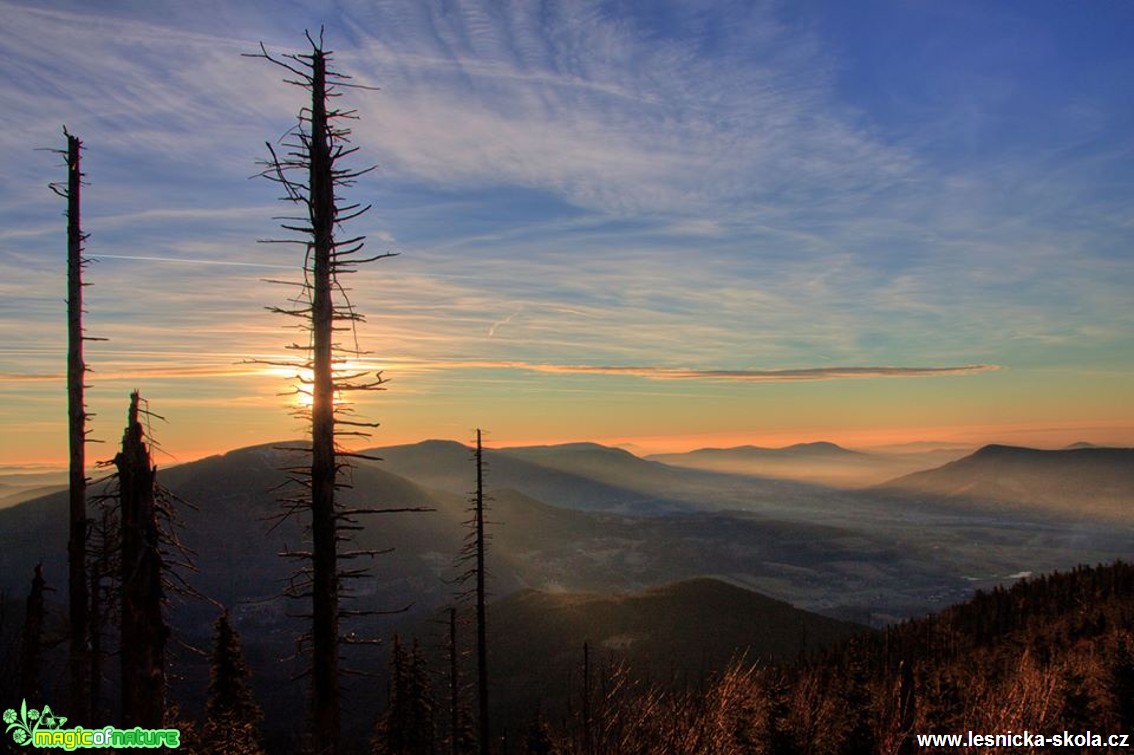
[[366,446],[1134,446],[1134,5],[0,0],[0,467],[66,458],[62,127],[88,457],[302,434],[302,249],[255,178],[325,29],[397,256],[350,279]]

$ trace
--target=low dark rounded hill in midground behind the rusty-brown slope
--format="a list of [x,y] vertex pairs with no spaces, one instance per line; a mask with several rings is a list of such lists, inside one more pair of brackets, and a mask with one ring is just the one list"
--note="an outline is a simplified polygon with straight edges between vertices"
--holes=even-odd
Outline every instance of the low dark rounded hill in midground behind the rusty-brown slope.
[[536,707],[566,714],[584,643],[595,679],[625,665],[640,682],[684,688],[734,660],[792,662],[865,631],[712,578],[628,594],[524,591],[492,603],[489,621],[493,706],[515,724]]

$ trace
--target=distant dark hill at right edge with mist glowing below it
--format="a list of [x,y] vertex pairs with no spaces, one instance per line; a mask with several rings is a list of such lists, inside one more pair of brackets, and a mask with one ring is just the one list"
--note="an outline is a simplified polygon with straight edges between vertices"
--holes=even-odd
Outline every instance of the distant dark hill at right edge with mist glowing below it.
[[1134,449],[1046,451],[985,446],[963,459],[892,480],[878,490],[1128,521],[1134,519]]

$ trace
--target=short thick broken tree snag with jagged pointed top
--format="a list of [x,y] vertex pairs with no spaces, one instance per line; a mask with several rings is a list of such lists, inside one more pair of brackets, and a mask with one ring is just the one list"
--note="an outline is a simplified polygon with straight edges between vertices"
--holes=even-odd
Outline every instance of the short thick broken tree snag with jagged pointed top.
[[166,713],[166,638],[161,616],[162,558],[150,457],[139,419],[139,396],[130,393],[122,449],[115,457],[121,517],[121,673],[124,726],[160,729]]

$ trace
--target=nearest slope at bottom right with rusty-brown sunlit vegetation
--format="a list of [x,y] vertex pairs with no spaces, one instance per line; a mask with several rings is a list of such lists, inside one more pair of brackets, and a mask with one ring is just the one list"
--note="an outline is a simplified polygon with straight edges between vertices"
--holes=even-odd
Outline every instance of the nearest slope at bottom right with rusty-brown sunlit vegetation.
[[[1132,621],[1134,568],[1081,567],[854,635],[805,664],[739,663],[684,689],[624,685],[589,719],[549,719],[543,737],[565,755],[955,753],[967,750],[916,736],[965,731],[1016,732],[990,748],[1004,752],[1122,752],[1107,737],[1134,726]],[[1098,739],[1048,738],[1065,731]]]

